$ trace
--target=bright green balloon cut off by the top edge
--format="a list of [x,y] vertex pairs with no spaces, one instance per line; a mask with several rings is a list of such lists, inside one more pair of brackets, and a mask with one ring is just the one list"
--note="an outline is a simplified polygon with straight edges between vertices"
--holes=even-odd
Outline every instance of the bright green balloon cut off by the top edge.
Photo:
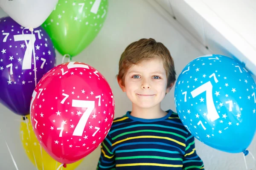
[[108,0],[59,0],[42,26],[58,52],[73,57],[97,36],[107,12]]

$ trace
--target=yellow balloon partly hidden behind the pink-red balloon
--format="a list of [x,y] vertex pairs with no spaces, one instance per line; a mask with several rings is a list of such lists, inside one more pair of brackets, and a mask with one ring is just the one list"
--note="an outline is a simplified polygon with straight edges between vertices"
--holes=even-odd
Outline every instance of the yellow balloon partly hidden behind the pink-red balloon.
[[[27,156],[35,167],[38,167],[38,170],[56,170],[61,163],[55,161],[44,148],[41,147],[32,129],[30,116],[27,115],[26,117],[26,121],[24,120],[20,124],[20,139]],[[81,164],[81,161],[83,161],[83,159],[73,164],[67,164],[67,167],[63,168],[63,170],[74,170]]]

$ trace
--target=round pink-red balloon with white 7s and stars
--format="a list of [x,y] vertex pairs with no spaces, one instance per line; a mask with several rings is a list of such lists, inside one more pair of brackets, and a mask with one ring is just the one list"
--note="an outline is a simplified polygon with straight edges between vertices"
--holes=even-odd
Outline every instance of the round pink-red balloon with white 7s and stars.
[[56,161],[70,164],[101,144],[114,110],[113,93],[102,74],[90,65],[67,62],[38,82],[30,117],[41,146]]

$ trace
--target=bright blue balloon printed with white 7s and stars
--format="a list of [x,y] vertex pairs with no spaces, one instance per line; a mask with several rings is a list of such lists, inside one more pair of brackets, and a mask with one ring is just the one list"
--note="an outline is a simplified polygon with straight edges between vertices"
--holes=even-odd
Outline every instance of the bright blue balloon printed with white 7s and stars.
[[255,82],[241,63],[222,55],[198,57],[175,85],[175,106],[183,125],[199,141],[241,153],[256,131]]

